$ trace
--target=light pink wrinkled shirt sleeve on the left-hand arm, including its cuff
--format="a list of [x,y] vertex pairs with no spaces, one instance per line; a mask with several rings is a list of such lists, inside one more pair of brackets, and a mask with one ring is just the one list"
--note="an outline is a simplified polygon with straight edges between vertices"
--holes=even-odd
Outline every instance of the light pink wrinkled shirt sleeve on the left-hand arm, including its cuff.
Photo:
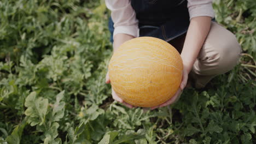
[[131,0],[105,0],[107,8],[111,11],[114,22],[114,34],[124,33],[139,36],[138,20],[135,10],[131,7]]

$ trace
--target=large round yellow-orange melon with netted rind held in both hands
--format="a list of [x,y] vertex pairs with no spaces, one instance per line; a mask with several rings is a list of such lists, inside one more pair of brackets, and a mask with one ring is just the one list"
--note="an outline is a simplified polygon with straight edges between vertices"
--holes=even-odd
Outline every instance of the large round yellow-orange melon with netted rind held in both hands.
[[179,52],[164,40],[139,37],[126,41],[109,61],[112,88],[126,103],[153,107],[177,92],[183,63]]

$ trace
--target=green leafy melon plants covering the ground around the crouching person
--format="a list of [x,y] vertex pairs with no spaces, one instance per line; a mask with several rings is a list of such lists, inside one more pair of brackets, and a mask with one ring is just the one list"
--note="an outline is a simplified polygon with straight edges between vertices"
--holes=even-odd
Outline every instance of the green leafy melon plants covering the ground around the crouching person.
[[255,2],[213,7],[242,46],[240,63],[149,111],[113,101],[104,82],[104,1],[1,1],[0,143],[255,143]]

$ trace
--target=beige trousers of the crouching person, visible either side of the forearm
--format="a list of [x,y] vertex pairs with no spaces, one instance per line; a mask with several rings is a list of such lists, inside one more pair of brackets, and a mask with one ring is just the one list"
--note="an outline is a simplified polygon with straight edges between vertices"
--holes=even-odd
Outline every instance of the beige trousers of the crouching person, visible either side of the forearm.
[[[181,52],[184,40],[185,34],[169,43]],[[205,87],[213,77],[234,68],[240,54],[241,46],[235,35],[218,23],[212,22],[210,32],[190,71],[189,79],[193,80],[195,88]]]

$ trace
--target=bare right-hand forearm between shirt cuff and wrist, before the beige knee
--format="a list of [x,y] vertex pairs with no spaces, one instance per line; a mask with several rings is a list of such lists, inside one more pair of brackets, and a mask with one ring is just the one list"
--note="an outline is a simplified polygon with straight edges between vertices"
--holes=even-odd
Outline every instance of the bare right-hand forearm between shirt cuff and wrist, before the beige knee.
[[210,31],[211,17],[199,16],[190,21],[188,32],[185,38],[181,57],[184,68],[188,71],[192,69],[200,49]]

